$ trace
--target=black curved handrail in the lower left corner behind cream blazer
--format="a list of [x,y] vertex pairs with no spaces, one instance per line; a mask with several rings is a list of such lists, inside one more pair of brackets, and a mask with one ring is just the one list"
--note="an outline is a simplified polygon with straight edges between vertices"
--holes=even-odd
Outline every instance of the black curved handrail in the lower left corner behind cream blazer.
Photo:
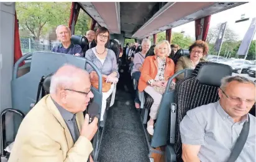
[[14,113],[18,114],[21,119],[23,120],[25,115],[19,111],[18,109],[4,109],[1,113],[1,156],[6,156],[6,151],[4,151],[4,143],[6,142],[6,130],[3,129],[5,128],[6,125],[6,113]]

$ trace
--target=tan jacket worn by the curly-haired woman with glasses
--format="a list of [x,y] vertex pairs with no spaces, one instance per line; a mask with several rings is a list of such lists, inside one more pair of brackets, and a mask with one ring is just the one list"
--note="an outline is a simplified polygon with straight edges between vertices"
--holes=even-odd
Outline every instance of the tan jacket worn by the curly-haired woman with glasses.
[[[206,62],[205,58],[201,58],[199,62]],[[178,62],[175,65],[175,73],[183,69],[194,69],[194,66],[191,62],[190,56],[181,56],[178,59]],[[184,73],[176,77],[177,80],[184,79]]]

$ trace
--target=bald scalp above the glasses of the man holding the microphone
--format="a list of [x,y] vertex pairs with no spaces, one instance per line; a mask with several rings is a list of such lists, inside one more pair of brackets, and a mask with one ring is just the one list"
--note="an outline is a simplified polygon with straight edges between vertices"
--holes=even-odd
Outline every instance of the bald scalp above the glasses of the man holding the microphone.
[[76,66],[65,64],[52,76],[50,93],[54,94],[66,88],[73,88],[80,82],[91,84],[88,72]]

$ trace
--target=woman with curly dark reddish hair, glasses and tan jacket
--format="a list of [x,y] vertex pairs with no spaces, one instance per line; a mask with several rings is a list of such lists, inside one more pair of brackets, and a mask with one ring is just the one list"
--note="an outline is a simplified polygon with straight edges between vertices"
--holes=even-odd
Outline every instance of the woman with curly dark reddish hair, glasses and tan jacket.
[[[190,56],[181,56],[175,65],[175,73],[183,69],[194,69],[199,62],[207,61],[204,56],[208,53],[208,45],[202,40],[197,40],[190,46]],[[184,79],[184,74],[176,77],[177,80]]]

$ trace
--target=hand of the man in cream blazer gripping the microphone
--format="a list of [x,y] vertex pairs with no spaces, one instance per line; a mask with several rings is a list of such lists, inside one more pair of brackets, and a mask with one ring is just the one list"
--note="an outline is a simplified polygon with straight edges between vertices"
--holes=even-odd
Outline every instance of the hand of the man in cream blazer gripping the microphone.
[[97,117],[94,117],[93,122],[89,124],[89,115],[85,115],[85,122],[83,123],[83,127],[81,130],[81,135],[85,136],[86,139],[91,140],[93,139],[94,134],[98,130],[98,121]]

